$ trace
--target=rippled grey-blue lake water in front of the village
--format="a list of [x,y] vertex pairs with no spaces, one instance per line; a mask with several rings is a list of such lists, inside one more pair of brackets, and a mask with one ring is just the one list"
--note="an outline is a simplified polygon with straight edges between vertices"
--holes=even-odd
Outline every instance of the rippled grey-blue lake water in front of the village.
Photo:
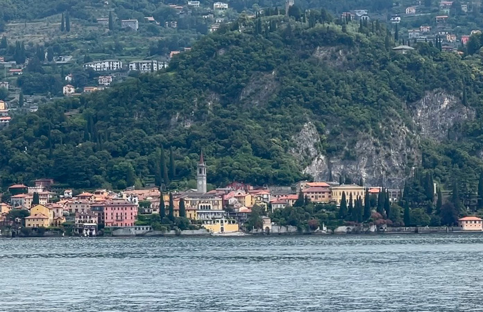
[[482,234],[0,239],[0,311],[483,311]]

